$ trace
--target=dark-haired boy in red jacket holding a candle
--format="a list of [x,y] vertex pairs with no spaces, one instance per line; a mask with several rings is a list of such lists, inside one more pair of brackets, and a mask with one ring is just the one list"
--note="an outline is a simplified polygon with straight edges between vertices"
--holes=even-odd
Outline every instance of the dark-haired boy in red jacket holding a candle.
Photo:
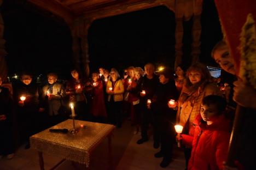
[[184,145],[192,147],[188,169],[223,169],[231,132],[225,107],[226,101],[221,96],[206,96],[202,101],[201,116],[194,122],[194,136],[177,137]]

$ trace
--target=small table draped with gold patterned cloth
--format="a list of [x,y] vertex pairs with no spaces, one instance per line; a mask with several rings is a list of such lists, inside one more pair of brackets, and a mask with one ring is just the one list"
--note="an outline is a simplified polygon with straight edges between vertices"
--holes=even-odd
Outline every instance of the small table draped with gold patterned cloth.
[[49,129],[72,129],[72,119],[68,119],[30,137],[31,148],[38,151],[40,169],[44,169],[43,153],[63,158],[52,169],[65,160],[82,163],[89,167],[90,154],[106,137],[108,137],[109,166],[112,169],[111,137],[115,126],[82,120],[75,120],[75,125],[79,128],[79,132],[74,135],[69,132],[49,132]]

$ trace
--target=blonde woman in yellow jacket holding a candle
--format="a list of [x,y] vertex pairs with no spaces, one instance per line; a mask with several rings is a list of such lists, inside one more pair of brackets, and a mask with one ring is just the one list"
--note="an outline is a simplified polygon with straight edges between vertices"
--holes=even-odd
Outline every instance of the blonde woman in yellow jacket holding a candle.
[[[109,89],[112,88],[112,89]],[[106,92],[108,94],[109,120],[112,124],[121,127],[121,106],[123,102],[124,85],[116,69],[110,70],[110,79],[107,82]]]

